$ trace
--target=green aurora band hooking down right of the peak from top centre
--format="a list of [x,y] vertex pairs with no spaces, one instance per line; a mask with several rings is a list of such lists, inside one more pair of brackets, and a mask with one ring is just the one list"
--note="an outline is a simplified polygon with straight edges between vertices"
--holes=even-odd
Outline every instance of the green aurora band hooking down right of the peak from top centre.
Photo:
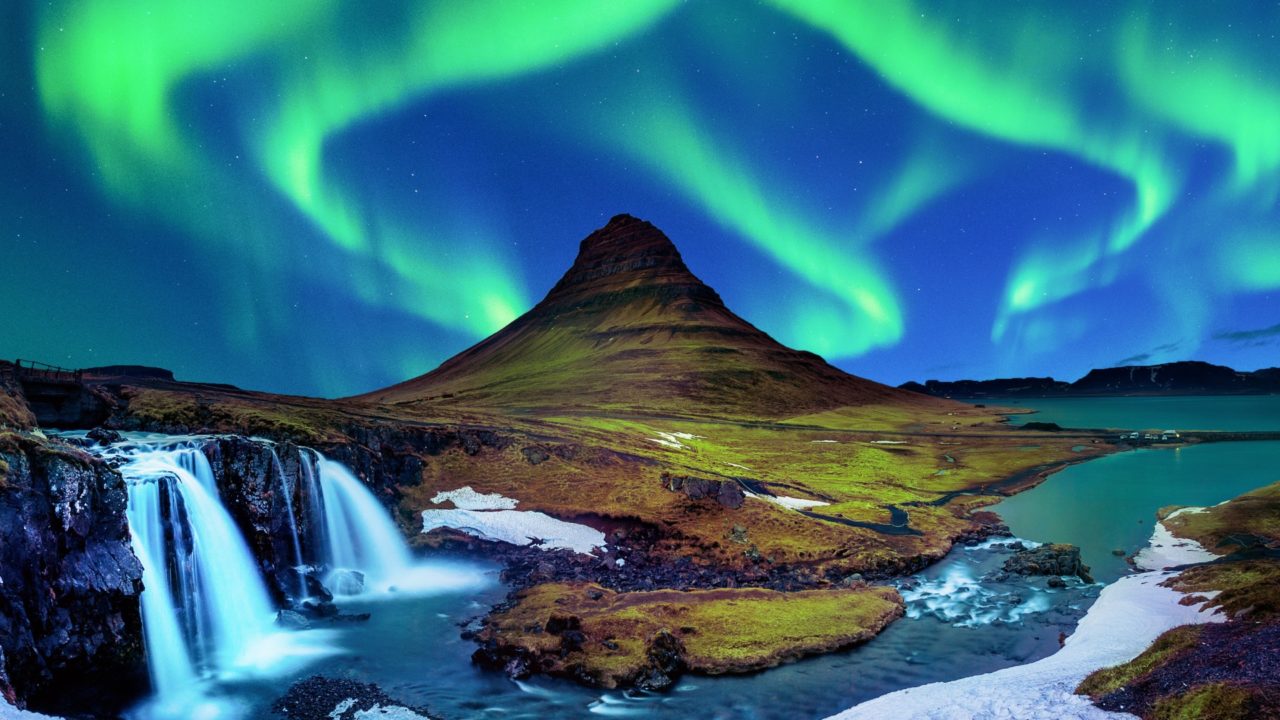
[[[1134,206],[1065,261],[1043,252],[1014,268],[992,328],[1000,341],[1009,316],[1034,310],[1088,287],[1088,272],[1124,252],[1170,208],[1180,179],[1158,145],[1140,128],[1091,122],[1073,97],[1073,47],[1043,22],[992,22],[1000,42],[964,38],[940,13],[929,19],[913,3],[772,0],[829,32],[890,85],[931,113],[1007,142],[1075,155],[1130,181]],[[993,47],[995,45],[995,47]],[[995,56],[993,56],[995,55]],[[1014,72],[1010,72],[1014,69]]]

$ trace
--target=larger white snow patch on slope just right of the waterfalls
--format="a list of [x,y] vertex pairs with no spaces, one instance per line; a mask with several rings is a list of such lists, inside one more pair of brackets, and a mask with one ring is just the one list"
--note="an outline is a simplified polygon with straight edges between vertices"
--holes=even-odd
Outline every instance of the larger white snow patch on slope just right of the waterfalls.
[[486,541],[529,544],[541,541],[543,550],[567,547],[584,555],[604,547],[604,533],[557,520],[531,510],[424,510],[422,532],[453,528]]

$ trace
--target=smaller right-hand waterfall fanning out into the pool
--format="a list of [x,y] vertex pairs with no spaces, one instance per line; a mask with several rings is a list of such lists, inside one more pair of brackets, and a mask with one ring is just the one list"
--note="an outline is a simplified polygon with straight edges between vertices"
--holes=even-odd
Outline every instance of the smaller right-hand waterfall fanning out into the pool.
[[[316,452],[314,473],[319,477],[325,564],[333,574],[356,570],[365,585],[388,591],[404,580],[413,565],[408,546],[387,509],[344,465]],[[334,592],[343,584],[334,583]]]

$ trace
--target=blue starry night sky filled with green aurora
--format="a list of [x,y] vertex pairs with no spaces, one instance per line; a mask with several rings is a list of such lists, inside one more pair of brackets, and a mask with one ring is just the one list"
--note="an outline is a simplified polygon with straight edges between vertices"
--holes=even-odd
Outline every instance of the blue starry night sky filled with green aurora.
[[882,382],[1280,364],[1280,8],[0,4],[0,356],[343,396],[645,218]]

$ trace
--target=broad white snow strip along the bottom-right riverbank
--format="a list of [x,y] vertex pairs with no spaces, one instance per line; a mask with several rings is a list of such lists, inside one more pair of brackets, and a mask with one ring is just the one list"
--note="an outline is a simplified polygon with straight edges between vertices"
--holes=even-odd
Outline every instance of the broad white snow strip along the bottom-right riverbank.
[[1160,584],[1174,575],[1151,570],[1107,585],[1062,650],[1043,660],[883,694],[835,715],[833,720],[1132,717],[1101,710],[1073,691],[1089,673],[1133,660],[1170,628],[1224,620],[1217,612],[1203,612],[1203,606],[1180,605],[1185,596]]

